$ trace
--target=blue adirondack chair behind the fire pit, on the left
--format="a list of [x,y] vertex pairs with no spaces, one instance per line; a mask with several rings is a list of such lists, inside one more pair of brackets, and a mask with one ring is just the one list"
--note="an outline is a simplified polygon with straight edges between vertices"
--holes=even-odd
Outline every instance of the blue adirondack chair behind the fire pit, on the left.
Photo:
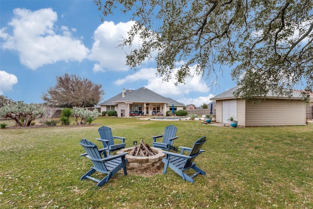
[[[112,130],[110,127],[101,126],[98,129],[101,139],[97,139],[102,142],[104,148],[108,148],[107,152],[110,155],[110,152],[120,150],[125,148],[125,137],[115,137],[112,135]],[[114,139],[120,139],[122,143],[114,144]]]

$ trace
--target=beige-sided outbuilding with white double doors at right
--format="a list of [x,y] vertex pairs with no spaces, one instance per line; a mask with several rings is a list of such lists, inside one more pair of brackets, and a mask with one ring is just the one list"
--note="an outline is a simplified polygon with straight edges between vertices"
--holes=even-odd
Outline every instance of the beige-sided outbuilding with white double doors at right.
[[271,93],[258,104],[236,99],[234,87],[210,98],[216,101],[216,122],[229,123],[230,116],[235,117],[241,126],[278,126],[305,125],[306,103],[297,91],[293,95],[276,96]]

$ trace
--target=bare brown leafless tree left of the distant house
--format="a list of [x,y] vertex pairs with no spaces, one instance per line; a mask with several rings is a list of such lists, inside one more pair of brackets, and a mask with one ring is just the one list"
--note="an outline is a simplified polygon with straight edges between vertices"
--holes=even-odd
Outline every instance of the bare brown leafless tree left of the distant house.
[[65,73],[57,76],[57,84],[49,87],[41,98],[54,107],[94,107],[97,105],[104,90],[101,84],[94,84],[87,78]]

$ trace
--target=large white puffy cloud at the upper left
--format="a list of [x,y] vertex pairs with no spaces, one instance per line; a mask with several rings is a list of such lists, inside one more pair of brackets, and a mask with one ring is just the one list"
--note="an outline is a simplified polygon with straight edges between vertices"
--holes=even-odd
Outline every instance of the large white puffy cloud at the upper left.
[[14,9],[14,15],[8,23],[13,27],[13,34],[5,37],[1,29],[1,37],[5,37],[2,47],[17,50],[20,62],[28,68],[36,70],[46,64],[82,61],[87,57],[89,49],[73,39],[66,26],[61,27],[64,36],[55,34],[57,13],[51,8],[36,11],[18,8]]

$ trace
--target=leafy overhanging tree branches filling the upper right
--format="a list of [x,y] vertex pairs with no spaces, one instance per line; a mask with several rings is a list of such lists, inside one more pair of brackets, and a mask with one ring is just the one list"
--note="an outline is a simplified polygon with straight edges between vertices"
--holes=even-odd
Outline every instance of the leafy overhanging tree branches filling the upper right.
[[[212,84],[219,73],[231,73],[240,86],[236,96],[248,100],[269,91],[313,91],[312,0],[94,2],[104,16],[116,7],[133,12],[134,26],[121,44],[142,40],[127,55],[131,68],[155,58],[158,74],[164,81],[174,77],[176,84],[193,76],[193,66]],[[178,62],[184,64],[173,74]]]

